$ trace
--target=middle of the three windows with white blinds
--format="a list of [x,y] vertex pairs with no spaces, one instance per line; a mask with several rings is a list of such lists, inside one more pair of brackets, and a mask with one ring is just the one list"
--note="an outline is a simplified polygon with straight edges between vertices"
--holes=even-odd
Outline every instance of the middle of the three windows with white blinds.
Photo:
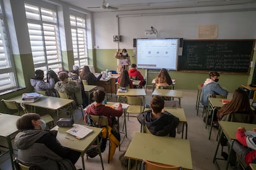
[[35,70],[62,70],[56,10],[25,4]]

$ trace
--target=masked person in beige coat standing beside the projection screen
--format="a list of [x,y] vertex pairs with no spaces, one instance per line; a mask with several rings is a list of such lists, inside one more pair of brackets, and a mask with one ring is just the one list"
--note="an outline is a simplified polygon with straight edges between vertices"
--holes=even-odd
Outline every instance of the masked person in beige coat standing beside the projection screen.
[[[123,70],[129,71],[130,57],[129,57],[126,49],[122,49],[122,52],[120,52],[120,49],[117,49],[114,57],[116,57],[116,59],[118,59],[116,72],[119,75],[121,75]],[[123,62],[124,59],[126,59],[125,60],[126,62]]]

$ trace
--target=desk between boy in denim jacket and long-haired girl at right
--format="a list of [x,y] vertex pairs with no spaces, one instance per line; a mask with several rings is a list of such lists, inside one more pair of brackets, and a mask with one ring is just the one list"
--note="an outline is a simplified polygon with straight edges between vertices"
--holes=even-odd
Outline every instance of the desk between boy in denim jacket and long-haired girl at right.
[[213,97],[209,97],[208,98],[208,109],[207,109],[207,114],[206,114],[206,119],[205,119],[205,128],[207,128],[207,121],[208,121],[208,116],[209,116],[209,112],[210,112],[210,108],[212,110],[212,114],[211,114],[211,124],[210,124],[210,129],[208,128],[208,132],[209,132],[209,140],[211,139],[211,129],[213,128],[213,113],[215,111],[216,108],[221,108],[224,104],[221,102],[222,99],[220,98],[213,98]]

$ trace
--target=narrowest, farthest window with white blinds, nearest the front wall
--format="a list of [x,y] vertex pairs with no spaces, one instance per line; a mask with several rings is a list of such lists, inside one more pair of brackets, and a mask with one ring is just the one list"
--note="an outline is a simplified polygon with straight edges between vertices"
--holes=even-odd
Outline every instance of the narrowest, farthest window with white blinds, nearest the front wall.
[[88,48],[85,19],[70,15],[70,26],[72,33],[72,44],[75,65],[80,68],[88,65]]

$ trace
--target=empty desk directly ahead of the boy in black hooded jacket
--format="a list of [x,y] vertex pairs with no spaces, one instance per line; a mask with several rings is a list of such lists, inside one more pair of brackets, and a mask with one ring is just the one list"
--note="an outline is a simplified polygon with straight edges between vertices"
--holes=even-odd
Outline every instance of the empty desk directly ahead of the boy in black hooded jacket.
[[183,96],[182,91],[169,90],[169,89],[155,89],[153,95],[160,95],[161,97],[174,97],[179,99],[179,105],[181,105],[181,98]]

